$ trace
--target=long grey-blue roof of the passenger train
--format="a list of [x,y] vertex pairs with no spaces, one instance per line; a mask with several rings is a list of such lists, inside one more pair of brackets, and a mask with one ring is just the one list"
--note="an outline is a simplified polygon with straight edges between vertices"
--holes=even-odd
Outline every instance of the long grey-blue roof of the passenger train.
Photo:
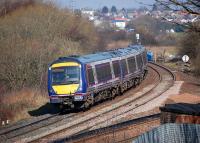
[[130,54],[136,55],[138,53],[141,53],[144,50],[145,48],[142,45],[129,45],[128,47],[125,47],[125,48],[110,50],[106,52],[98,52],[95,54],[89,54],[89,55],[83,55],[83,56],[61,57],[53,63],[62,62],[62,61],[71,59],[71,60],[76,60],[80,63],[87,64],[87,63],[92,63],[92,62],[106,60],[106,59],[123,57]]

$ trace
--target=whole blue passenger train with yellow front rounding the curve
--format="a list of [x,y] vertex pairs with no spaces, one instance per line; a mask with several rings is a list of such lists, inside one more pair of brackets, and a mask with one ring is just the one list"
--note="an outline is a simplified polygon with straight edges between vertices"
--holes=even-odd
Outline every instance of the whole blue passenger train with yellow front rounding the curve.
[[142,45],[107,52],[60,57],[48,68],[50,103],[88,109],[139,84],[147,74]]

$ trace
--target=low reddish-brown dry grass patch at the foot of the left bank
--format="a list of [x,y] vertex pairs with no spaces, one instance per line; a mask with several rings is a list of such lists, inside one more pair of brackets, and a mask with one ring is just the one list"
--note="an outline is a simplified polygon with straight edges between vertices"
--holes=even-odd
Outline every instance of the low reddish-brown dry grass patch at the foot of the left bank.
[[0,96],[0,121],[18,121],[30,117],[27,111],[45,105],[45,93],[35,89],[23,89]]

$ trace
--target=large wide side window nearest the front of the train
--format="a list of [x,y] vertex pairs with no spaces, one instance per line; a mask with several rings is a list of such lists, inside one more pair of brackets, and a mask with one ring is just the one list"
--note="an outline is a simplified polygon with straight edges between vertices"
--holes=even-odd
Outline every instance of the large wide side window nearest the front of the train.
[[95,66],[98,82],[104,82],[112,79],[110,63],[103,63]]

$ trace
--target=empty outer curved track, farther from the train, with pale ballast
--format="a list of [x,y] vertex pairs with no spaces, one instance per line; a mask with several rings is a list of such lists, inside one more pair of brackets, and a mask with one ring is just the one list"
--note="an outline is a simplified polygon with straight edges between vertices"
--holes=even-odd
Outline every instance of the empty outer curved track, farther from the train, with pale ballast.
[[[159,67],[158,69],[155,69]],[[91,130],[95,130],[101,127],[106,127],[112,124],[113,121],[117,121],[120,118],[125,117],[125,115],[133,114],[133,110],[137,110],[139,107],[142,106],[149,101],[157,98],[163,92],[168,90],[172,85],[173,81],[175,80],[175,76],[171,73],[168,69],[159,66],[159,65],[151,65],[151,68],[157,71],[159,74],[160,82],[154,85],[151,90],[146,91],[142,94],[135,94],[134,99],[130,99],[129,102],[123,104],[123,106],[117,107],[107,113],[101,114],[101,117],[94,117],[90,120],[85,120],[78,124],[71,126],[71,128],[65,128],[64,130],[56,133],[56,136],[59,138],[58,141],[68,141],[70,136],[74,134],[81,134],[83,132],[88,132]],[[161,90],[160,86],[163,87]],[[146,96],[148,95],[148,96]],[[131,103],[131,104],[130,104]],[[128,105],[126,105],[128,104]],[[56,138],[54,135],[50,135],[46,140],[54,140]]]

